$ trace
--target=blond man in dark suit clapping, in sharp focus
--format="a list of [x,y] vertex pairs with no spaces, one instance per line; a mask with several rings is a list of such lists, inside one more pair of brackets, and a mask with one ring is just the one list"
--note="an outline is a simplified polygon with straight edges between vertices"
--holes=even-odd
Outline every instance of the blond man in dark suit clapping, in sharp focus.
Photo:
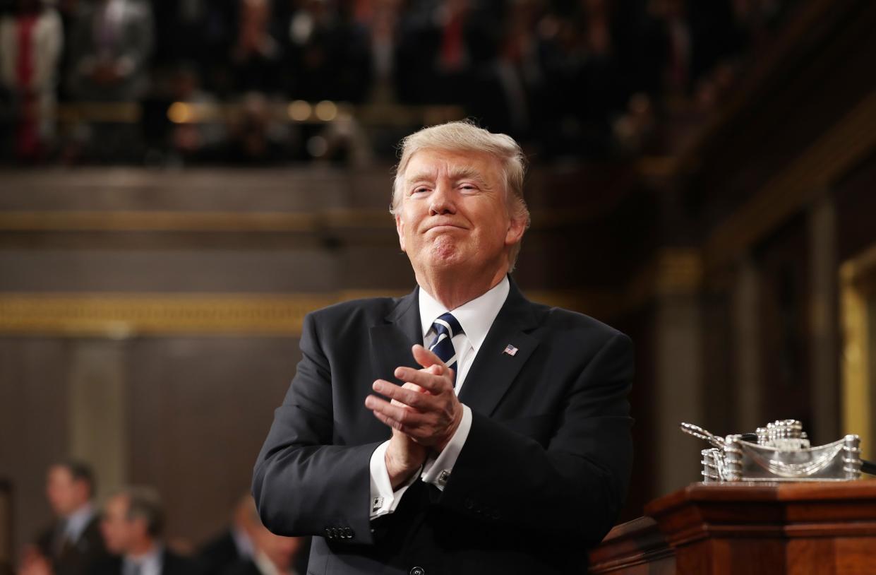
[[273,532],[321,534],[308,573],[583,572],[615,521],[632,344],[510,279],[523,173],[468,123],[406,138],[392,213],[419,287],[305,319],[253,495]]

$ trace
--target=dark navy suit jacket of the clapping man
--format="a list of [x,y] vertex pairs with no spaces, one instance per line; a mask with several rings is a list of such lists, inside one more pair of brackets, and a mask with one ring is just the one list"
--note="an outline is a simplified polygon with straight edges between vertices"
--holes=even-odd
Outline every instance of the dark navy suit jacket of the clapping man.
[[253,475],[265,526],[317,536],[318,575],[582,572],[629,483],[630,339],[512,281],[459,396],[472,424],[443,492],[417,480],[372,522],[369,462],[390,430],[364,400],[397,366],[419,367],[415,343],[416,290],[307,316]]

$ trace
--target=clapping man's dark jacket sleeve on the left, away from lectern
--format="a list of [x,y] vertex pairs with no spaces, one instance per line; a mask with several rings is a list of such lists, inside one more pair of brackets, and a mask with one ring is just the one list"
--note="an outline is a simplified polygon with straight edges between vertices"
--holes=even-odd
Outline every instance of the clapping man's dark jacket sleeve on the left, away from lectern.
[[332,374],[313,314],[304,320],[301,361],[252,477],[265,527],[283,536],[372,543],[369,461],[379,443],[333,445]]

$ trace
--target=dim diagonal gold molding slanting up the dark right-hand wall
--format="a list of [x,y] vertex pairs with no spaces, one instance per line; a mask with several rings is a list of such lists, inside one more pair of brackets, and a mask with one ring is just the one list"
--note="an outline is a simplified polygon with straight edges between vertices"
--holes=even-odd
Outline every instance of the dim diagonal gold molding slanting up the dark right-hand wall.
[[866,96],[822,138],[776,174],[741,209],[717,226],[704,249],[710,270],[734,259],[876,146],[876,92]]

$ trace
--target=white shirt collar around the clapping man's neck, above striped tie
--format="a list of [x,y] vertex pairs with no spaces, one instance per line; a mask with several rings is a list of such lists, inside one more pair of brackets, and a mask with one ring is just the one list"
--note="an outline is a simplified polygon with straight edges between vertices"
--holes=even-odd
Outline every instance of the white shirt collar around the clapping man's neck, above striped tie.
[[508,276],[505,275],[484,295],[479,295],[470,302],[465,302],[458,308],[450,310],[436,301],[425,289],[420,288],[420,323],[423,328],[423,339],[426,339],[427,333],[432,329],[435,318],[452,311],[456,321],[463,326],[463,331],[469,338],[471,347],[477,353],[487,337],[487,332],[490,331],[493,320],[498,316],[499,309],[502,309],[502,305],[508,298],[510,289]]

